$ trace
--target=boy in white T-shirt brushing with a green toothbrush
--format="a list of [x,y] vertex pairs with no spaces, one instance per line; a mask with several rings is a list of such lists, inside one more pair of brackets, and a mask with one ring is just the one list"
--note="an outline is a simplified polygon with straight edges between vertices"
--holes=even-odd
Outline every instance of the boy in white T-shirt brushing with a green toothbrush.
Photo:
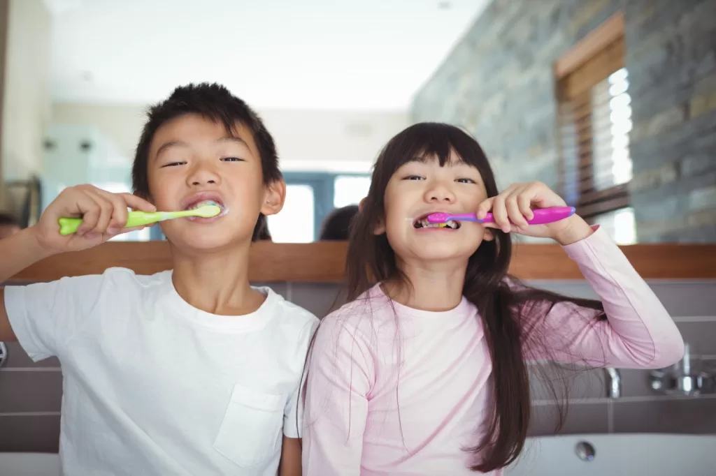
[[[135,195],[65,189],[39,222],[0,242],[5,280],[43,257],[105,242],[127,207],[211,219],[163,222],[173,271],[8,287],[0,340],[62,362],[60,455],[72,475],[299,475],[299,382],[317,319],[248,283],[248,251],[286,186],[274,140],[217,84],[176,89],[148,114]],[[82,216],[74,236],[57,219]]]

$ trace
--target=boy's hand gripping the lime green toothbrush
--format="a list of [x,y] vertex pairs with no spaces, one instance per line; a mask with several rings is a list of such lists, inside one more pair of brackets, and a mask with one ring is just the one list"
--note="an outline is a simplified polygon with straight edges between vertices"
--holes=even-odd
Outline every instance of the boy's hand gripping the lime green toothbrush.
[[[32,232],[42,249],[50,254],[79,251],[106,242],[117,234],[144,227],[125,228],[127,207],[143,212],[156,208],[132,194],[112,194],[92,185],[64,189],[42,213]],[[59,234],[59,219],[81,217],[83,222],[75,234]]]

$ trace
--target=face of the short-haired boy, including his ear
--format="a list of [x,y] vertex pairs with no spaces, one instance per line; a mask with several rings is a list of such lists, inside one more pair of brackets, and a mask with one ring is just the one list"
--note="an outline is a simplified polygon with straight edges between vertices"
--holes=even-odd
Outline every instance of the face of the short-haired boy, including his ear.
[[162,222],[169,241],[189,252],[248,244],[259,212],[275,214],[284,205],[284,182],[263,185],[256,143],[241,124],[231,135],[198,114],[166,122],[154,134],[147,167],[158,210],[193,209],[207,200],[223,209],[218,217]]

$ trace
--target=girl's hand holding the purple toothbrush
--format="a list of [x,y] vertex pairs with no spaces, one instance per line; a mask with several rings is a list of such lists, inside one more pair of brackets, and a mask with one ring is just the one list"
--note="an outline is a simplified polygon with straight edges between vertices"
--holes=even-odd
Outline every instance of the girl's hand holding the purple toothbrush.
[[571,244],[589,237],[593,230],[584,219],[572,215],[558,222],[530,225],[533,208],[566,207],[564,200],[542,182],[513,184],[496,197],[490,197],[478,207],[478,218],[492,212],[494,223],[485,223],[488,228],[501,229],[528,237],[551,238],[559,244]]

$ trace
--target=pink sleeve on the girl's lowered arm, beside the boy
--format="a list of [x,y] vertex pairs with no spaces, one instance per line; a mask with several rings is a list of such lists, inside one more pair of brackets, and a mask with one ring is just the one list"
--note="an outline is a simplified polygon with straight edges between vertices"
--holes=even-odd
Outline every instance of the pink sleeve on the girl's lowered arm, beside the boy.
[[303,475],[359,475],[374,367],[344,317],[329,314],[319,325],[306,378]]

